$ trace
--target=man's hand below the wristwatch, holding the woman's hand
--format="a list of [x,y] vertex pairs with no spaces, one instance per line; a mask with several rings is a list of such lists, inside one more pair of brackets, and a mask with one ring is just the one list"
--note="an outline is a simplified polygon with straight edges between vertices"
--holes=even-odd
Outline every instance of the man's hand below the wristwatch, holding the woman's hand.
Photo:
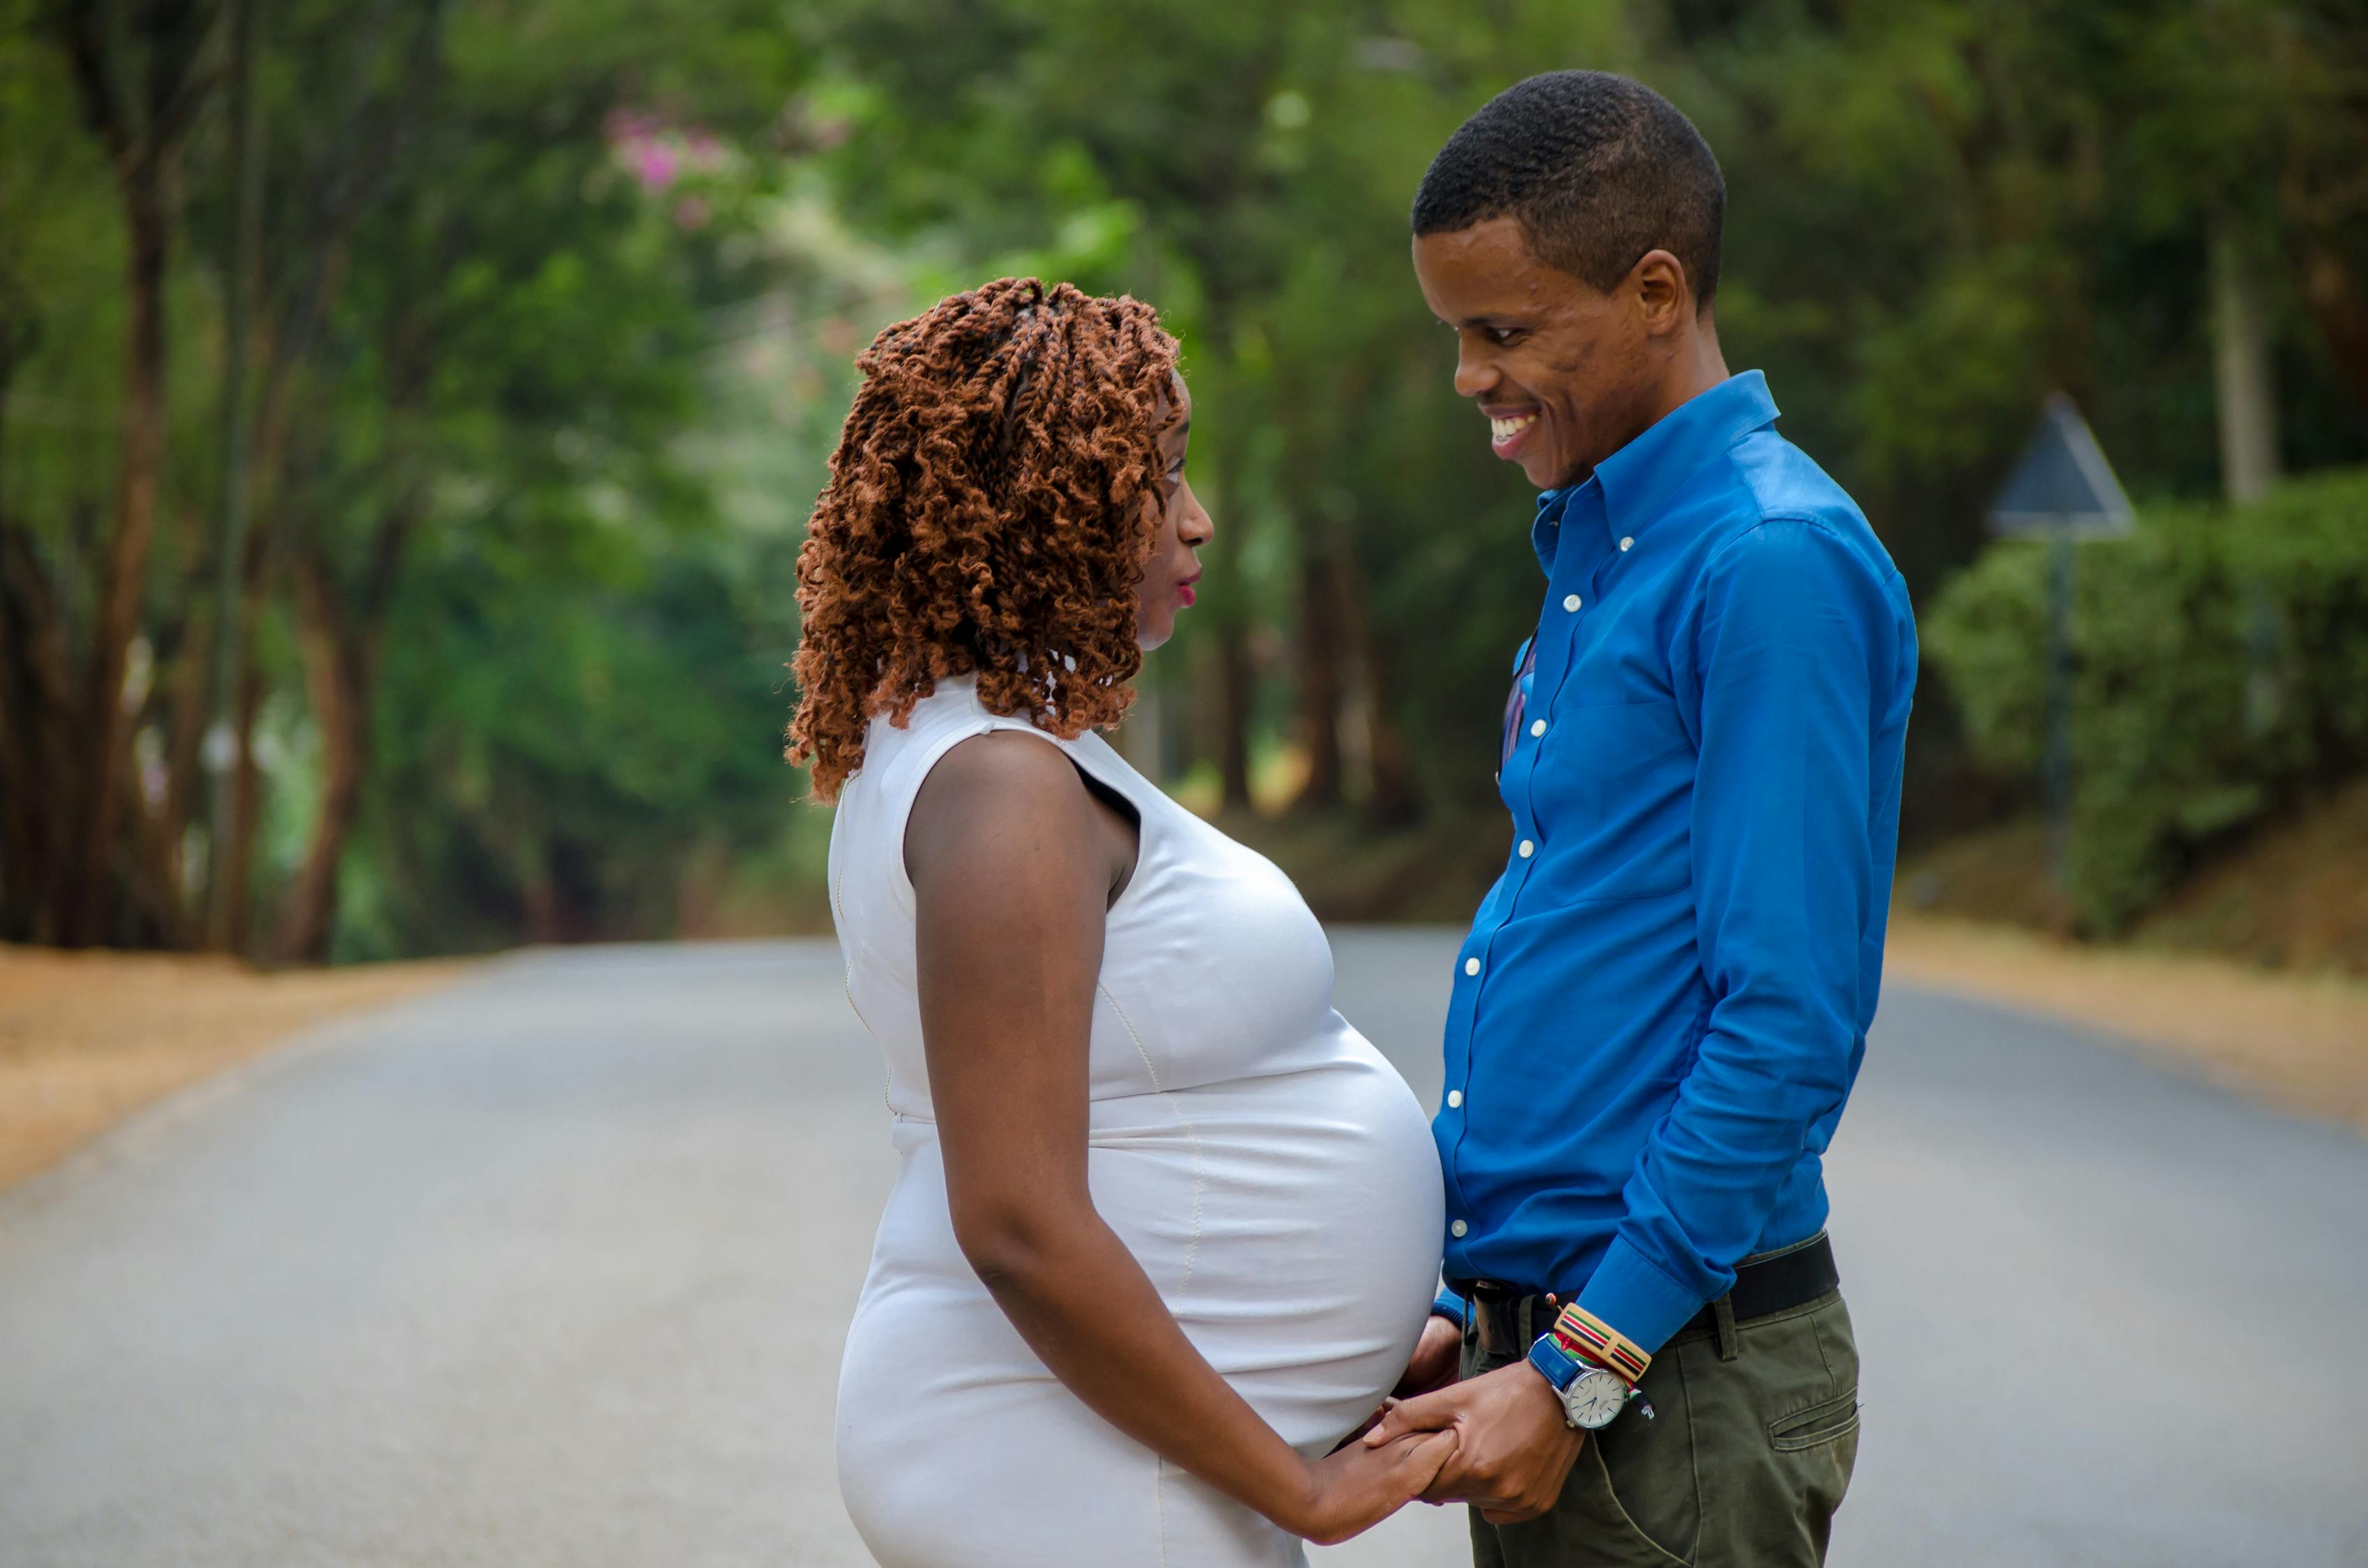
[[1407,1433],[1454,1431],[1456,1454],[1423,1502],[1468,1502],[1492,1525],[1537,1518],[1563,1495],[1584,1433],[1530,1362],[1513,1362],[1416,1400],[1399,1400],[1369,1431],[1369,1445]]

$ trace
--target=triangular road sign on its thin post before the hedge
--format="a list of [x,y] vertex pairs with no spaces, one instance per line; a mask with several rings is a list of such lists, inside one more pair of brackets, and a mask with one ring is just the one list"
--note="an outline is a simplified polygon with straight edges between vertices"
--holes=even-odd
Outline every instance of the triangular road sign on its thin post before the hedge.
[[1989,502],[1991,533],[2048,540],[2048,869],[2070,888],[2072,857],[2072,542],[2131,531],[2136,514],[2072,398],[2053,393],[2032,443]]

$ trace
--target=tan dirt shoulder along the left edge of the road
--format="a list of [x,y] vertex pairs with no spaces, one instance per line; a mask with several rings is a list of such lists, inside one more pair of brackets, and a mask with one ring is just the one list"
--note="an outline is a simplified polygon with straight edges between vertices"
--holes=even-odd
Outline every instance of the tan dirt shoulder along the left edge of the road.
[[163,1094],[464,959],[256,973],[230,959],[0,945],[0,1187]]

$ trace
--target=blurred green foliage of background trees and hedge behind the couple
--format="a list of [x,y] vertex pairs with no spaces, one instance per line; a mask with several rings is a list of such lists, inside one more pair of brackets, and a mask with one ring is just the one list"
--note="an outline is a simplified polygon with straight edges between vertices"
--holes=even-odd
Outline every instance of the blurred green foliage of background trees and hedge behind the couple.
[[[663,933],[699,902],[687,883],[720,888],[732,867],[812,879],[824,815],[789,810],[781,666],[850,360],[888,320],[999,272],[1132,291],[1186,348],[1193,483],[1220,538],[1201,609],[1148,670],[1165,687],[1156,751],[1179,775],[1307,756],[1326,722],[1310,692],[1328,685],[1350,801],[1381,798],[1390,732],[1392,815],[1485,820],[1506,663],[1537,613],[1530,490],[1454,393],[1449,336],[1407,268],[1407,206],[1454,126],[1539,69],[1636,73],[1703,126],[1731,192],[1726,358],[1769,372],[1785,433],[1861,500],[1918,592],[1977,554],[1982,502],[2051,388],[2081,403],[2134,493],[2216,490],[2207,227],[2242,230],[2259,261],[2285,462],[2359,464],[2356,12],[272,5],[256,355],[301,362],[287,452],[253,486],[275,545],[258,928],[332,817],[339,732],[317,680],[336,637],[379,647],[377,675],[350,682],[369,756],[339,952]],[[128,313],[121,204],[50,14],[0,0],[0,528],[54,580],[78,673]],[[137,753],[187,786],[211,616],[192,583],[213,580],[220,486],[223,95],[173,185]],[[355,213],[350,244],[327,246],[339,213]],[[291,346],[308,289],[334,306]],[[2247,519],[2242,561],[2212,554],[2216,523],[2181,507],[2084,552],[2091,924],[2359,760],[2342,703],[2368,682],[2328,630],[2356,599],[2311,609],[2356,583],[2340,528],[2330,512],[2261,521],[2337,505],[2309,495]],[[2316,540],[2292,545],[2306,561],[2259,554],[2287,535]],[[329,613],[294,590],[298,559],[322,568]],[[2039,727],[2039,571],[1994,550],[1932,635],[1973,739],[2015,770]],[[2252,580],[2271,583],[2269,642]],[[2214,597],[2228,583],[2242,592]],[[1918,805],[1963,784],[1942,715],[1925,703],[1913,765],[1937,786]],[[166,793],[154,841],[194,848],[154,865],[178,865],[194,902],[201,791]]]

